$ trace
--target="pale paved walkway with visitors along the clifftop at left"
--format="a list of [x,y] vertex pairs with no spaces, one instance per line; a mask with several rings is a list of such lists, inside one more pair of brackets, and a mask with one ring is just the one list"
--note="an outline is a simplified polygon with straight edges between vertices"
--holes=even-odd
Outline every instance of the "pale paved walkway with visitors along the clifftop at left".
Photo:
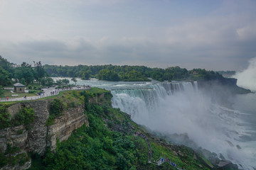
[[[75,87],[71,87],[68,89],[55,89],[55,87],[49,87],[47,89],[42,89],[44,94],[41,94],[40,96],[28,96],[26,98],[23,97],[19,97],[19,98],[9,98],[8,101],[31,101],[31,100],[36,100],[39,98],[46,98],[48,96],[55,96],[58,95],[60,91],[70,91],[70,90],[87,90],[90,89],[90,87],[84,87],[84,86],[75,86]],[[5,98],[1,98],[0,102],[6,101]]]

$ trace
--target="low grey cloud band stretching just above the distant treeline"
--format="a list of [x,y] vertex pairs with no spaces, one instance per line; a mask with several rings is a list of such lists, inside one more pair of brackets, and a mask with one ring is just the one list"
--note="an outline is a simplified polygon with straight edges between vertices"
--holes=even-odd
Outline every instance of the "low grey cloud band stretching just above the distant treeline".
[[18,52],[13,57],[16,57],[18,63],[41,60],[46,64],[146,64],[149,67],[179,65],[187,69],[201,67],[218,70],[238,68],[238,65],[245,67],[246,62],[241,55],[250,56],[250,52],[242,51],[241,54],[239,45],[242,44],[239,43],[236,43],[237,50],[233,49],[233,45],[226,50],[227,45],[223,48],[220,48],[221,45],[188,47],[178,43],[137,39],[107,40],[100,46],[78,39],[74,42],[75,45],[70,44],[72,43],[58,40],[21,42],[13,46],[12,50]]

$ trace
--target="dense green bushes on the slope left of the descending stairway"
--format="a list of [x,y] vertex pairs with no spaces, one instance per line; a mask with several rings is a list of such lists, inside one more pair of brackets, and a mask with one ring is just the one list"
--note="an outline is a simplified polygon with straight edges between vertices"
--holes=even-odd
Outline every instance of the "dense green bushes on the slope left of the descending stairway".
[[[42,168],[31,169],[130,169],[139,157],[131,137],[109,130],[100,106],[90,105],[87,111],[90,128],[83,125],[67,142],[58,144],[55,154],[46,153]],[[134,167],[135,168],[135,167]]]

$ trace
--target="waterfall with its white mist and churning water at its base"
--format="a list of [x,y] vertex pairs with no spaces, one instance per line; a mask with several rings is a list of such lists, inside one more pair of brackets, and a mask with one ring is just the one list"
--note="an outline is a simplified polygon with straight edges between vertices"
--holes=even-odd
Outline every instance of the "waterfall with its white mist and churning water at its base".
[[252,165],[255,156],[248,154],[241,141],[251,132],[242,120],[245,113],[213,103],[212,94],[200,91],[196,81],[163,82],[111,92],[112,106],[131,115],[136,123],[167,136],[187,134],[196,145],[242,164],[242,169],[251,169],[248,164]]

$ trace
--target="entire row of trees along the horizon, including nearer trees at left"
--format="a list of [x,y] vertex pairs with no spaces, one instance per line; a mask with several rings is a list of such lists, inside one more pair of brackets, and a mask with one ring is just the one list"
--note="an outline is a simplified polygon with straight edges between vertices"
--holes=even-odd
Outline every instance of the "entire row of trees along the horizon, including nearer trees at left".
[[206,69],[187,70],[178,66],[166,69],[112,64],[56,66],[43,65],[41,62],[34,62],[33,65],[23,62],[18,65],[0,56],[0,86],[12,84],[11,80],[26,85],[36,81],[43,86],[51,86],[53,79],[50,77],[97,78],[107,81],[150,81],[149,78],[158,81],[224,79],[218,72],[206,71]]

